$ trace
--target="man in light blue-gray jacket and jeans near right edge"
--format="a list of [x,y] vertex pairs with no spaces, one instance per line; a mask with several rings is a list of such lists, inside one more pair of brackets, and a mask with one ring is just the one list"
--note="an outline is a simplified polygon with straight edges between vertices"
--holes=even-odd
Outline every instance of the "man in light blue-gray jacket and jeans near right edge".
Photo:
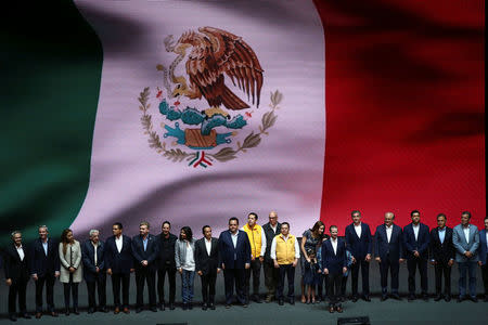
[[470,224],[471,212],[461,213],[461,224],[452,231],[452,244],[455,248],[455,261],[459,264],[459,298],[458,302],[466,298],[466,273],[470,274],[470,299],[476,298],[476,263],[478,261],[479,235],[476,225]]

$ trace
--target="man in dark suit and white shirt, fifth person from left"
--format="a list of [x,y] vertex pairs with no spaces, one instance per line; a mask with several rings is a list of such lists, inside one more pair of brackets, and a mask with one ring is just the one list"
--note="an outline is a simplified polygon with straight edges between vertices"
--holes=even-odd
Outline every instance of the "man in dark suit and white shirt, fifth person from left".
[[[113,236],[105,242],[106,273],[112,275],[112,289],[114,292],[114,314],[129,311],[130,273],[133,272],[132,240],[123,235],[123,225],[116,222],[112,225]],[[123,304],[120,304],[120,283],[123,290]]]

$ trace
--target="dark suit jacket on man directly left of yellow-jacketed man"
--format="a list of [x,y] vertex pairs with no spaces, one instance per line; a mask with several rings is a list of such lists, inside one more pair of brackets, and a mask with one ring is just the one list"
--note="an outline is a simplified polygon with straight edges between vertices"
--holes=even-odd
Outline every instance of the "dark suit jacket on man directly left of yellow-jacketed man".
[[245,263],[251,263],[251,243],[247,237],[246,232],[237,231],[237,244],[232,243],[232,237],[230,231],[224,231],[220,233],[219,236],[219,252],[220,261],[219,265],[222,263],[226,269],[244,269]]

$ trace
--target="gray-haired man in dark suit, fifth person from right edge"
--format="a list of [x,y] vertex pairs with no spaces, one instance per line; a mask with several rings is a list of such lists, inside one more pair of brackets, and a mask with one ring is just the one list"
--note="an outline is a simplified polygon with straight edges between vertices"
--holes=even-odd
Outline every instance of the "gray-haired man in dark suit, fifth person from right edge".
[[398,295],[398,272],[400,263],[403,262],[403,240],[401,227],[394,224],[395,214],[385,213],[385,223],[376,227],[374,237],[376,239],[376,261],[380,263],[380,275],[382,283],[382,301],[387,299],[388,270],[391,274],[391,297],[400,300]]

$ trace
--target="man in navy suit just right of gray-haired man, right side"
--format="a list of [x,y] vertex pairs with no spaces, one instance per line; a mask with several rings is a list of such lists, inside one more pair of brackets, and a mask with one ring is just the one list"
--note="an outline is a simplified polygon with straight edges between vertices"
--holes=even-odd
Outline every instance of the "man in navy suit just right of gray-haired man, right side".
[[429,229],[420,222],[420,211],[410,213],[412,223],[403,227],[403,247],[407,255],[407,269],[409,270],[409,301],[415,300],[415,272],[419,268],[421,275],[422,298],[428,301],[427,260],[428,245],[431,243]]

